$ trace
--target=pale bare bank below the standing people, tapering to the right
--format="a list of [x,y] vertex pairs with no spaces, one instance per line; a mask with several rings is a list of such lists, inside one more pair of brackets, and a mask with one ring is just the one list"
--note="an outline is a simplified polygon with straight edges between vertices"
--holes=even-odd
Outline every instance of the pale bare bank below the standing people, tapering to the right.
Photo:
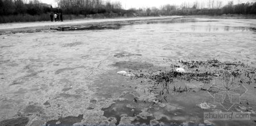
[[106,19],[76,19],[64,20],[64,22],[24,22],[24,23],[3,23],[0,24],[0,32],[15,32],[31,29],[49,29],[52,27],[75,26],[75,25],[94,25],[97,23],[125,23],[133,21],[147,21],[147,20],[160,20],[171,19],[182,16],[153,16],[153,17],[136,17],[136,18],[106,18]]

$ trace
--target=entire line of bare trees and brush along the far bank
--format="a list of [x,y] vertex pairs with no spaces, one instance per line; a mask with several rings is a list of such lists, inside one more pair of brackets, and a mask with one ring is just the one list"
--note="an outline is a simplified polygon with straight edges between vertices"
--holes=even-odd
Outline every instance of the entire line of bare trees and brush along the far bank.
[[[238,3],[220,0],[184,2],[181,5],[163,5],[125,10],[120,2],[104,0],[55,0],[52,7],[39,0],[0,0],[0,23],[49,20],[50,13],[63,13],[64,19],[76,17],[159,16],[159,15],[222,15],[256,14],[256,2]],[[96,15],[96,16],[93,16]]]

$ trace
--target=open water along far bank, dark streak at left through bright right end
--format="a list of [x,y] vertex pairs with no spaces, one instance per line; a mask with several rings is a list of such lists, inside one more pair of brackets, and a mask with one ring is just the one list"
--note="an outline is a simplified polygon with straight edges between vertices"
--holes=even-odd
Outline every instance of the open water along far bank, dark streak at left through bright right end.
[[[96,25],[96,26],[72,26],[68,27],[67,31],[77,30],[119,30],[119,28],[130,26],[136,27],[138,25],[144,27],[152,27],[157,30],[157,27],[166,27],[170,31],[175,32],[244,32],[244,31],[256,31],[255,23],[251,23],[251,20],[238,19],[214,19],[214,18],[181,18],[174,17],[169,19],[155,19],[155,20],[137,20],[130,21],[121,24],[111,25]],[[245,24],[246,23],[246,24]],[[148,25],[145,25],[148,24]],[[242,24],[242,25],[241,25]],[[137,29],[145,30],[144,27],[138,27]],[[155,31],[150,30],[150,32]],[[64,30],[63,30],[64,31]],[[66,30],[65,30],[66,31]]]

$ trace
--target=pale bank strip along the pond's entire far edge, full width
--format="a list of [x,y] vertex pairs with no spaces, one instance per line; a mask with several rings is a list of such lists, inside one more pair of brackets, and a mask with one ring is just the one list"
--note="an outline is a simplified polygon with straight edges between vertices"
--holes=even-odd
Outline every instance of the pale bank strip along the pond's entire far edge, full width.
[[46,30],[52,30],[61,27],[73,27],[73,26],[111,26],[113,24],[137,24],[137,23],[152,23],[160,22],[167,19],[175,18],[248,18],[256,19],[255,15],[185,15],[185,16],[139,16],[132,18],[100,18],[100,19],[75,19],[64,20],[64,22],[19,22],[19,23],[2,23],[0,24],[0,35],[5,33],[20,33],[20,32],[40,32]]

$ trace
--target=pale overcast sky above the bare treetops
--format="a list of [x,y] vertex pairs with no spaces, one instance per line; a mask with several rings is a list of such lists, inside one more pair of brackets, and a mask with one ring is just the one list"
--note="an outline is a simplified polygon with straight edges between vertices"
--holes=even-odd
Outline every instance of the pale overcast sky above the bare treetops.
[[[55,0],[40,0],[43,3],[48,3],[50,5],[52,5],[53,7],[56,7],[56,2]],[[109,0],[109,1],[119,1],[122,3],[123,8],[125,9],[130,9],[131,7],[134,8],[139,8],[139,7],[160,7],[161,5],[166,5],[166,4],[175,4],[175,5],[180,5],[183,2],[190,2],[193,3],[193,1],[196,0]],[[209,1],[209,0],[197,0],[198,2],[201,1]],[[216,0],[215,0],[216,1]],[[228,1],[231,0],[219,0],[222,1],[224,4],[226,4]],[[238,1],[240,1],[240,3],[245,3],[247,1],[249,2],[256,2],[256,0],[233,0],[234,3],[238,3]]]

